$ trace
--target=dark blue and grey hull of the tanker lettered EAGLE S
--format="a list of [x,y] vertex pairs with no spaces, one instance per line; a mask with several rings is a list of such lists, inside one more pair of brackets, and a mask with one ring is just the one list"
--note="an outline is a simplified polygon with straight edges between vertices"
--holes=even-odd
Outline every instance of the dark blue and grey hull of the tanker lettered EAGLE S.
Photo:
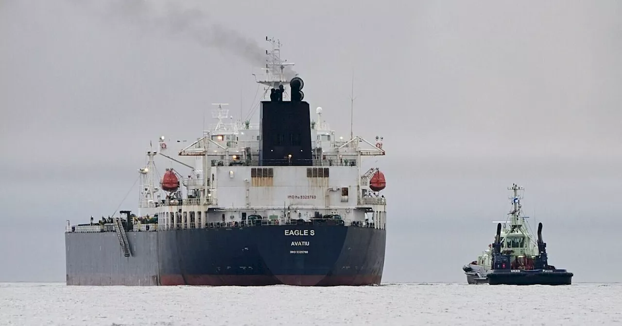
[[68,285],[380,284],[386,230],[343,225],[66,233]]

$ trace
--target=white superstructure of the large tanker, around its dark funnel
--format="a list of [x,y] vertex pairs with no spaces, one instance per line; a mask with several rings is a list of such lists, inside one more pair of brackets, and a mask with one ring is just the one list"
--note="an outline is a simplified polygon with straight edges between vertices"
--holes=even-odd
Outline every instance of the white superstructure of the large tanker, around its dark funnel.
[[[289,83],[287,75],[294,65],[281,60],[278,41],[266,40],[272,49],[263,68],[265,76],[256,76],[258,83],[267,86],[264,97],[271,88]],[[195,156],[194,166],[175,158],[163,136],[159,151],[150,150],[147,166],[139,170],[140,215],[156,215],[158,229],[236,227],[251,220],[295,224],[327,215],[344,225],[385,228],[386,199],[369,188],[373,176],[381,176],[376,188],[381,191],[384,175],[377,168],[361,170],[363,156],[384,155],[383,138],[376,137],[372,143],[358,136],[336,137],[317,107],[310,126],[313,166],[259,166],[259,124],[234,121],[226,103],[213,106],[216,124],[177,153]],[[156,153],[185,166],[179,168],[183,173],[177,173],[185,191],[164,194],[154,185]]]

